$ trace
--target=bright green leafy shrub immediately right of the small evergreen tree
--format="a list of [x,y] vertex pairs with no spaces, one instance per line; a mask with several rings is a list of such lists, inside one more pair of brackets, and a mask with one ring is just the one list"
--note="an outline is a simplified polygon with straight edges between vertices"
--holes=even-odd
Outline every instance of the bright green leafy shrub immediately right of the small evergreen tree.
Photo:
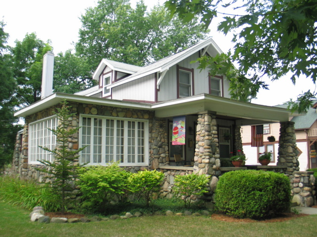
[[105,211],[110,201],[124,201],[127,197],[130,172],[118,163],[108,166],[90,166],[79,171],[78,185],[83,194],[84,206],[93,206]]

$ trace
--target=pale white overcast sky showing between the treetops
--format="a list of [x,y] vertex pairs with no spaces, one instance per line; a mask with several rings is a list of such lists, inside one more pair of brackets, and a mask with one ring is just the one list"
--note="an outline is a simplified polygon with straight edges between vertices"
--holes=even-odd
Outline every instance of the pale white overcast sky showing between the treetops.
[[[15,40],[23,40],[27,33],[35,32],[43,41],[52,40],[53,52],[65,52],[73,48],[72,42],[78,40],[81,27],[79,17],[85,9],[95,6],[97,0],[3,0],[0,7],[0,18],[6,26],[4,31],[9,34],[8,44],[14,46]],[[136,0],[131,0],[135,5]],[[153,7],[164,0],[145,0],[148,7]],[[230,36],[216,32],[216,24],[211,27],[211,37],[226,52],[231,47]],[[310,79],[300,79],[294,86],[288,77],[269,82],[269,90],[261,90],[258,99],[253,103],[262,105],[278,105],[307,91],[315,90]]]

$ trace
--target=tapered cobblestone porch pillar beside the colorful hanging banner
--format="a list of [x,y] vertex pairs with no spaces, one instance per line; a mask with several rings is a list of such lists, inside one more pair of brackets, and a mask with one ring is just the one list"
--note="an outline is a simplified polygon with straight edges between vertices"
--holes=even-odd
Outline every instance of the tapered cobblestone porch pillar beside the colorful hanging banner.
[[199,175],[219,175],[219,158],[218,132],[215,112],[199,112],[196,130],[194,173]]

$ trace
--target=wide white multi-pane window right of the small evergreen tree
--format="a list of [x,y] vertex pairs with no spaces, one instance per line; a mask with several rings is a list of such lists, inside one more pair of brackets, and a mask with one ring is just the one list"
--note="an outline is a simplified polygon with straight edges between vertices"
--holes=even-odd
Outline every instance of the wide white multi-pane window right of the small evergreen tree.
[[148,164],[147,120],[82,116],[80,137],[81,163]]

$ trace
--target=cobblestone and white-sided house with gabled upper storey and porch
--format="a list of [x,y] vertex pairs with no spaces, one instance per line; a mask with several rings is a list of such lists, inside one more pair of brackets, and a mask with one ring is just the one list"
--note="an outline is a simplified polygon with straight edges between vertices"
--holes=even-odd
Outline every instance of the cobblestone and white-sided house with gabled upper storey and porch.
[[[219,175],[220,159],[242,149],[241,125],[283,123],[289,118],[283,108],[231,100],[223,75],[210,75],[193,63],[205,54],[219,53],[208,39],[145,67],[103,59],[93,75],[98,85],[75,94],[52,94],[52,79],[45,79],[49,92],[42,91],[40,101],[15,113],[25,118],[21,174],[35,176],[28,171],[40,164],[38,160],[52,159],[38,146],[55,146],[46,128],[57,126],[52,111],[66,99],[76,114],[71,126],[81,127],[69,138],[69,149],[87,146],[80,163],[119,161],[130,170],[166,169],[180,154],[191,166],[184,169]],[[178,116],[185,118],[185,145],[171,142],[173,118]],[[232,137],[224,139],[225,133]]]

